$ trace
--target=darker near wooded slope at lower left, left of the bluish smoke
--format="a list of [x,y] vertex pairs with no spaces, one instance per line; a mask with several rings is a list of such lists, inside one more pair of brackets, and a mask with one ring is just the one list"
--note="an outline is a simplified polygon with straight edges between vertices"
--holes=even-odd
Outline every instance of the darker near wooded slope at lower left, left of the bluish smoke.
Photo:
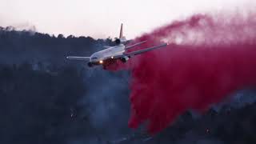
[[50,74],[35,71],[29,64],[1,65],[0,142],[65,143],[78,131],[88,133],[86,115],[84,122],[75,121],[72,115],[86,92],[82,80],[82,74],[72,67]]

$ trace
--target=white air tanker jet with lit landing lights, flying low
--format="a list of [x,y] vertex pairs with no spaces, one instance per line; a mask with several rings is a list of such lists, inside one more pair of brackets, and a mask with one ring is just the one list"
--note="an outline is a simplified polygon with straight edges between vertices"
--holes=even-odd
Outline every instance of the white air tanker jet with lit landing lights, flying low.
[[70,60],[78,60],[78,61],[84,61],[87,62],[87,65],[89,67],[102,65],[103,68],[106,66],[109,66],[110,64],[117,62],[117,60],[121,60],[121,62],[127,62],[130,58],[134,57],[137,54],[143,54],[150,50],[155,50],[160,47],[167,46],[167,43],[163,43],[159,46],[153,46],[150,48],[146,48],[144,50],[137,50],[132,52],[127,52],[127,50],[130,50],[134,46],[141,45],[142,42],[135,43],[131,46],[126,46],[126,42],[130,42],[126,40],[126,37],[122,34],[122,24],[121,24],[121,30],[119,34],[119,38],[116,38],[115,41],[116,46],[104,46],[105,50],[100,50],[98,52],[95,52],[90,57],[78,57],[78,56],[68,56],[67,59]]

